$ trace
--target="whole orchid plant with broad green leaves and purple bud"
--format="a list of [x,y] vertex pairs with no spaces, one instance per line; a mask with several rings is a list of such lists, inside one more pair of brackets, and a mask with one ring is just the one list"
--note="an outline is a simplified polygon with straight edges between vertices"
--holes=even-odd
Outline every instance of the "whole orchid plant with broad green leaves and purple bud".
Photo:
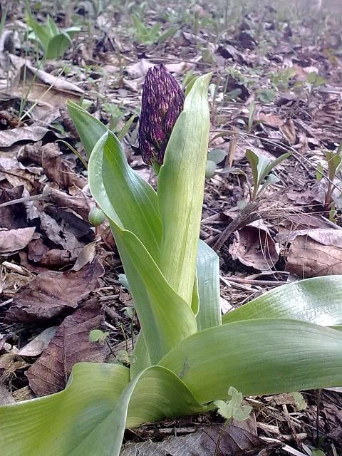
[[115,135],[68,103],[139,317],[135,362],[79,363],[60,393],[0,407],[1,455],[115,456],[125,427],[213,410],[230,387],[263,395],[342,385],[341,276],[280,286],[221,314],[219,259],[199,241],[209,79],[183,100],[165,67],[146,78],[139,138],[157,192]]

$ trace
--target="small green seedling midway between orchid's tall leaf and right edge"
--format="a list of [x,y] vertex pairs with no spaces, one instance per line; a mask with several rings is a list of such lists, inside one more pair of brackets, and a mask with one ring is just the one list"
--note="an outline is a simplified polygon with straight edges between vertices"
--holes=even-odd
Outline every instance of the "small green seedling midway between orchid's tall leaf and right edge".
[[276,158],[276,160],[271,161],[264,155],[259,156],[252,150],[246,150],[246,157],[249,161],[249,165],[251,165],[253,176],[253,190],[249,185],[249,194],[251,201],[255,201],[257,197],[259,197],[269,185],[279,181],[278,177],[271,173],[271,170],[273,170],[276,165],[279,165],[279,163],[291,155],[292,152],[286,152],[285,154]]

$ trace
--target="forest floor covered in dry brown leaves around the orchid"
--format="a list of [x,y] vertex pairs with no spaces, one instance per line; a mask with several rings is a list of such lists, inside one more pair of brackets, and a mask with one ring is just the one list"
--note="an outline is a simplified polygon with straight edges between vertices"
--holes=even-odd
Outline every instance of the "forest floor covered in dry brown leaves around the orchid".
[[[30,38],[24,1],[2,11],[0,403],[62,390],[79,361],[129,362],[133,301],[108,227],[88,222],[87,172],[66,143],[86,155],[66,100],[115,132],[135,115],[125,153],[155,184],[137,131],[142,83],[157,63],[184,85],[214,72],[209,153],[217,167],[206,182],[201,238],[219,253],[222,311],[281,284],[342,274],[342,41],[333,14],[290,17],[267,6],[236,14],[186,1],[182,14],[176,1],[159,9],[107,2],[103,11],[84,1],[58,11],[54,3],[32,8],[42,23],[49,11],[58,27],[76,27],[55,58],[42,58]],[[267,160],[292,152],[254,201],[246,150]],[[89,341],[94,328],[108,332],[108,343]],[[252,418],[229,427],[217,455],[342,454],[338,388],[303,392],[299,402],[289,394],[247,401]],[[133,443],[123,454],[195,455],[196,442],[198,454],[212,455],[208,440],[220,423],[208,413],[127,431]]]

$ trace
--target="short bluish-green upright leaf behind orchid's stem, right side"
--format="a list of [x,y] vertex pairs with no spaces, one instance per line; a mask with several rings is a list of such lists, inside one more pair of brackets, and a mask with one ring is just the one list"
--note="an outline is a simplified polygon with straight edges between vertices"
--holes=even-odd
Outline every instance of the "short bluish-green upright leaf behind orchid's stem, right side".
[[219,302],[219,257],[205,242],[199,241],[197,251],[197,281],[199,312],[196,316],[199,330],[221,324]]

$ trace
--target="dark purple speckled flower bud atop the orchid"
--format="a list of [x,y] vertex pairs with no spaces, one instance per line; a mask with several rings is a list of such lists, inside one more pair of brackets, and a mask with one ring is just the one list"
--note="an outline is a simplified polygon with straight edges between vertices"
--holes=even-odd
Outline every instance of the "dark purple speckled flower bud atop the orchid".
[[164,65],[147,71],[142,88],[139,125],[139,147],[147,165],[162,165],[167,141],[182,112],[184,94],[179,84]]

